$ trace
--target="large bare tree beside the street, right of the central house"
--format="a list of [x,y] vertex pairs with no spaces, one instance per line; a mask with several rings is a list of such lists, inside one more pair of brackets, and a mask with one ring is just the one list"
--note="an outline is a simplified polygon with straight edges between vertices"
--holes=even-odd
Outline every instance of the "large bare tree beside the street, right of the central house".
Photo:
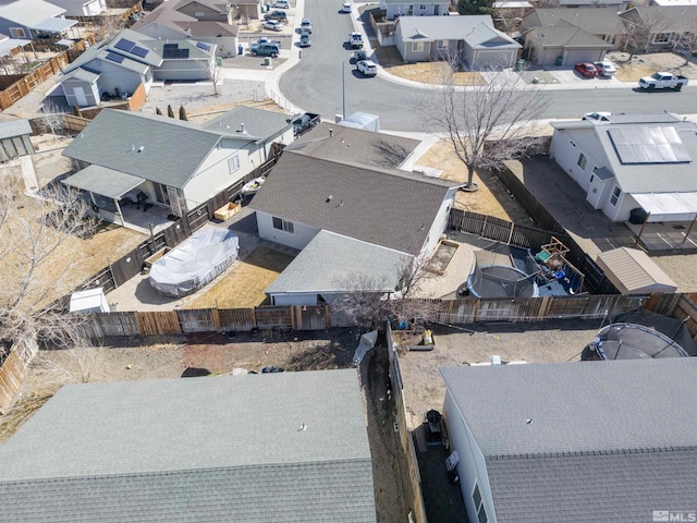
[[[416,110],[427,129],[444,131],[460,161],[467,169],[466,187],[474,173],[535,148],[540,138],[530,132],[546,104],[545,94],[510,71],[484,71],[484,82],[468,75],[455,85],[454,64],[442,85],[424,95]],[[494,142],[493,146],[489,146]]]

